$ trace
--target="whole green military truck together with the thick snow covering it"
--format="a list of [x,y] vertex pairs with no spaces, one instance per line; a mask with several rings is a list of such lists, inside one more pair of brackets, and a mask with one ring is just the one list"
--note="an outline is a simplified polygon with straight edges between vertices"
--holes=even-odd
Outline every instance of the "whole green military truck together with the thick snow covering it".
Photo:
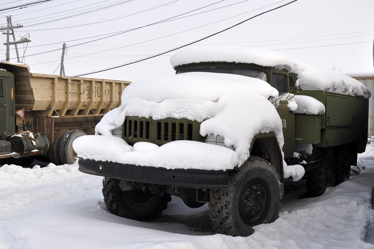
[[[306,178],[319,196],[365,151],[371,93],[346,75],[244,48],[184,50],[171,62],[176,75],[123,92],[121,138],[74,142],[79,170],[104,177],[115,215],[151,220],[178,196],[190,208],[208,203],[218,233],[248,236],[278,218],[285,177]],[[110,156],[85,148],[94,141]]]

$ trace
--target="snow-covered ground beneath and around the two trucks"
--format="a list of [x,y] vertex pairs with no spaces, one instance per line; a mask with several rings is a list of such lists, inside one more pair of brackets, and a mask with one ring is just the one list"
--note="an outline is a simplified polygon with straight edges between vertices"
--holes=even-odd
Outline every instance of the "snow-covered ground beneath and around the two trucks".
[[[0,168],[0,249],[5,248],[374,248],[374,147],[359,155],[364,172],[325,194],[304,198],[304,181],[288,181],[279,219],[249,237],[214,234],[207,205],[177,197],[154,222],[110,214],[102,177],[78,166]],[[361,161],[362,160],[362,161]]]

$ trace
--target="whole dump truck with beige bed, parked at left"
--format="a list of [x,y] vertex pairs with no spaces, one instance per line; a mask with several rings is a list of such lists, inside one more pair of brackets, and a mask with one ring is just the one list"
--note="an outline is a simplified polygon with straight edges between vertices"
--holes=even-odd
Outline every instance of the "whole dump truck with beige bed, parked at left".
[[74,139],[95,133],[128,84],[36,74],[24,63],[0,62],[0,164],[73,164]]

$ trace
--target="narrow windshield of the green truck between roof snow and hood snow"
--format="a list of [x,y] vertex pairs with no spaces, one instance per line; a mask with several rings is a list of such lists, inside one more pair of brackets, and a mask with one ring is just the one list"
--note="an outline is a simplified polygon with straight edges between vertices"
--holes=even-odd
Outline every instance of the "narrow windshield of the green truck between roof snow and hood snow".
[[266,74],[265,72],[254,69],[254,68],[242,68],[242,67],[233,67],[233,66],[206,66],[206,67],[198,67],[198,68],[186,68],[181,69],[177,72],[177,74],[186,73],[186,72],[214,72],[214,73],[221,73],[221,74],[238,74],[243,76],[248,76],[252,78],[259,78],[260,80],[266,81]]

